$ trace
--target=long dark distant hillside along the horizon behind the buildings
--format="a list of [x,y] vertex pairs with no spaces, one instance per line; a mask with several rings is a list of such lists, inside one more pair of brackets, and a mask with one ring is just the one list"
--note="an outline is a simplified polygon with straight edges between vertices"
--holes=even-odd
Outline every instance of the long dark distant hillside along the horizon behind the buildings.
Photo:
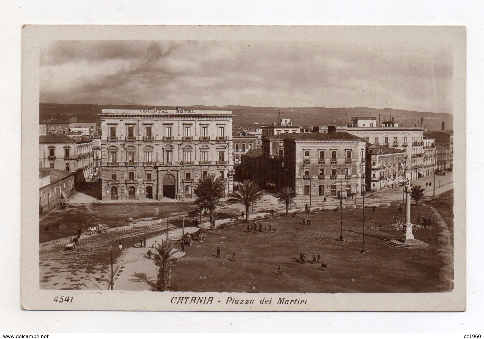
[[[48,119],[67,123],[69,118],[77,116],[78,122],[100,122],[99,113],[102,109],[141,109],[150,108],[148,105],[92,105],[92,104],[39,104],[39,120],[44,122]],[[173,106],[156,106],[158,108],[175,109]],[[390,114],[395,121],[403,126],[413,126],[423,118],[423,124],[428,130],[441,129],[445,121],[447,130],[453,128],[453,116],[449,113],[418,112],[393,108],[324,108],[324,107],[251,107],[228,105],[218,106],[182,106],[187,109],[231,109],[234,114],[234,126],[253,127],[255,124],[264,125],[277,121],[277,110],[281,110],[282,118],[291,119],[292,123],[301,126],[312,125],[342,125],[351,120],[351,117],[376,117],[380,116],[383,122],[390,119]]]

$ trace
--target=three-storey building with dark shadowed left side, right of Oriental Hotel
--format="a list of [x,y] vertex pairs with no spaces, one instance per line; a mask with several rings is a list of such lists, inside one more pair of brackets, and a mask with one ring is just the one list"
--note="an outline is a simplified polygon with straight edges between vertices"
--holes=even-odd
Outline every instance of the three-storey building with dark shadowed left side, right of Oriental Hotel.
[[[252,154],[250,154],[252,155]],[[260,185],[294,187],[299,195],[340,196],[364,189],[365,140],[349,133],[283,133],[262,138],[257,170],[244,169]]]

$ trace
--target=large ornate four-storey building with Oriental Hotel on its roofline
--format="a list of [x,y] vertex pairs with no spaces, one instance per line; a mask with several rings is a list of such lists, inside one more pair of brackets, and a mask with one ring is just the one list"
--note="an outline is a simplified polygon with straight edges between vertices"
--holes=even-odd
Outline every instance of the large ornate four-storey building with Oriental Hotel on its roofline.
[[232,191],[232,111],[103,109],[102,199],[193,199],[199,178]]

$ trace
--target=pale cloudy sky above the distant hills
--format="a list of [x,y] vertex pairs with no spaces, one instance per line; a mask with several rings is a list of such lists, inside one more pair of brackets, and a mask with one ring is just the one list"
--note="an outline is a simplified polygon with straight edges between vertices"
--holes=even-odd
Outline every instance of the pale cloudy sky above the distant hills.
[[449,48],[355,41],[51,41],[40,102],[452,113]]

